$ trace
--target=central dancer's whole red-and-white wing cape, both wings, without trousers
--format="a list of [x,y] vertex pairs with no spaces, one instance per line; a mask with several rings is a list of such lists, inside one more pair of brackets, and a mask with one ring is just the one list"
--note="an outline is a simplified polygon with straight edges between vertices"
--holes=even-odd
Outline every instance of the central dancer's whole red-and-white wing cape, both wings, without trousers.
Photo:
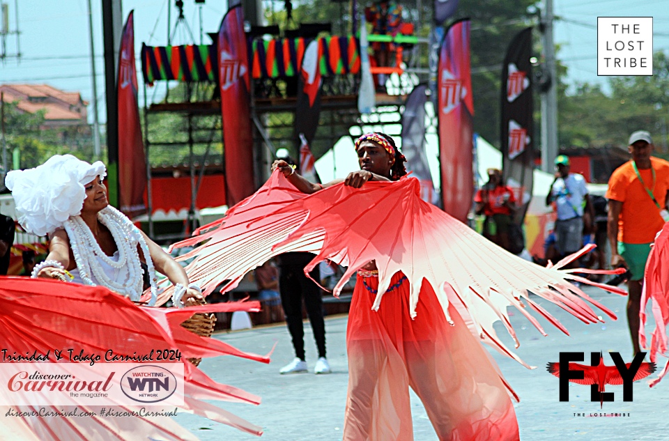
[[[348,267],[334,288],[334,295],[338,295],[358,268],[375,260],[379,270],[375,309],[393,274],[401,270],[410,281],[412,316],[420,286],[427,281],[448,319],[447,307],[453,303],[475,336],[521,363],[493,329],[493,323],[500,320],[516,339],[507,307],[515,307],[544,334],[530,311],[539,311],[566,332],[557,319],[530,301],[530,292],[585,323],[601,321],[585,300],[615,318],[612,311],[569,283],[580,277],[560,270],[560,266],[543,268],[505,252],[422,201],[419,192],[415,178],[403,178],[394,183],[368,182],[360,189],[332,185],[306,196],[275,171],[259,192],[231,209],[219,228],[208,233],[208,242],[189,254],[195,260],[187,272],[191,279],[206,284],[207,291],[227,280],[226,291],[236,286],[245,272],[272,256],[318,252],[305,271],[325,259]],[[606,288],[624,293],[619,288]]]

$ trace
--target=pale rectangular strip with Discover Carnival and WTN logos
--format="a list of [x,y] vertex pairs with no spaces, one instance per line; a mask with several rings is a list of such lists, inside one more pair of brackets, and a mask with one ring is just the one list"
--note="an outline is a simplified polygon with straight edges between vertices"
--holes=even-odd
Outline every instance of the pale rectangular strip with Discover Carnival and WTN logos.
[[[36,354],[37,351],[33,353]],[[67,410],[66,415],[43,415],[68,417],[95,416],[95,412],[91,414],[91,409],[86,409],[89,405],[184,405],[185,377],[182,362],[151,362],[148,358],[155,357],[153,353],[151,357],[146,355],[146,363],[106,362],[107,357],[112,356],[112,350],[108,350],[105,360],[102,360],[100,355],[84,354],[83,350],[79,353],[70,348],[53,352],[48,350],[44,355],[33,357],[36,362],[1,363],[0,405],[69,405],[72,408]],[[82,361],[49,363],[40,362],[40,358]],[[119,410],[124,409],[117,407],[116,412]],[[104,408],[95,411],[100,412],[100,417],[122,416],[113,409],[110,409],[114,412],[111,415],[105,415]],[[176,412],[169,416],[174,415]],[[9,416],[13,415],[5,415]],[[125,415],[134,416],[137,415]]]

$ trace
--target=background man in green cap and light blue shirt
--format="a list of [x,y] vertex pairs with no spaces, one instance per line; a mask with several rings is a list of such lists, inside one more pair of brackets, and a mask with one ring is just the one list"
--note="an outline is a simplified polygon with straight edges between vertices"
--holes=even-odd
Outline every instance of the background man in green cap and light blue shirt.
[[[560,257],[577,252],[583,246],[583,227],[592,230],[594,210],[585,187],[585,178],[570,173],[569,157],[555,158],[555,179],[546,196],[546,205],[555,202],[555,240]],[[572,262],[571,266],[576,265]]]

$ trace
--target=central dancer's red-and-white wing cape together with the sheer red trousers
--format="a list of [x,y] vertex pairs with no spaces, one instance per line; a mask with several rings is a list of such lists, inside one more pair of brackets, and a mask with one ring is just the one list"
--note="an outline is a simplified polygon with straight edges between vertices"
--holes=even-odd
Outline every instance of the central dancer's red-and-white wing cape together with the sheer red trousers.
[[412,439],[407,385],[426,405],[440,438],[516,440],[505,387],[512,391],[477,340],[527,366],[493,329],[500,320],[516,339],[509,306],[542,334],[530,310],[567,333],[530,292],[585,323],[600,320],[584,299],[615,318],[569,283],[590,281],[559,270],[578,255],[553,268],[523,261],[422,201],[414,178],[360,189],[333,185],[307,196],[275,171],[217,224],[175,245],[208,240],[184,256],[194,256],[189,277],[208,289],[224,280],[224,289],[233,288],[277,254],[310,251],[317,256],[305,273],[326,259],[348,267],[334,288],[338,295],[359,268],[376,261],[378,277],[357,276],[348,318],[345,440]]

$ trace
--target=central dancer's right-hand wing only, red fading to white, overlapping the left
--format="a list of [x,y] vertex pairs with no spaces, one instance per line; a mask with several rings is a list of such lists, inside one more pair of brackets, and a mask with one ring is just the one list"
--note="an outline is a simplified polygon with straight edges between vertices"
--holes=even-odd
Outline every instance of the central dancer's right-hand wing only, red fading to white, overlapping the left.
[[[308,211],[309,216],[275,248],[325,231],[321,252],[305,271],[324,259],[346,262],[348,270],[334,288],[335,295],[358,268],[376,260],[380,281],[375,308],[380,306],[392,275],[401,270],[410,280],[412,312],[422,281],[426,280],[437,293],[444,314],[448,303],[453,302],[475,335],[519,362],[522,361],[498,339],[493,323],[501,320],[515,339],[507,314],[507,307],[514,306],[543,332],[526,309],[528,291],[559,305],[585,323],[600,320],[583,299],[615,318],[612,311],[569,284],[569,279],[576,276],[560,271],[557,266],[542,268],[509,254],[422,201],[419,191],[415,178],[366,183],[361,189],[344,185],[328,187],[277,213]],[[255,229],[256,225],[250,227]],[[610,291],[620,293],[615,288]]]

